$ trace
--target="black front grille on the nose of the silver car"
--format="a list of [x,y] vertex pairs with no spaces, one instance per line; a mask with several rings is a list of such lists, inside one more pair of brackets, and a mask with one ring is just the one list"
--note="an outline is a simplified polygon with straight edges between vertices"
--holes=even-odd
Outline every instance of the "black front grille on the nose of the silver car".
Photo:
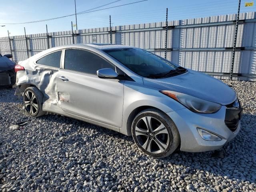
[[242,117],[243,108],[238,99],[231,104],[226,105],[225,124],[232,131],[236,131],[239,121]]

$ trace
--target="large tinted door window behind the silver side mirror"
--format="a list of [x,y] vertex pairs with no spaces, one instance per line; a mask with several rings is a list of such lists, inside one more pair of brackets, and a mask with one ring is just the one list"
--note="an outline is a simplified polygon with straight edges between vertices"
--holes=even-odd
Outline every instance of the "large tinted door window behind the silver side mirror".
[[103,68],[112,68],[115,70],[112,64],[96,54],[77,49],[65,51],[64,68],[89,74],[97,74],[97,70]]

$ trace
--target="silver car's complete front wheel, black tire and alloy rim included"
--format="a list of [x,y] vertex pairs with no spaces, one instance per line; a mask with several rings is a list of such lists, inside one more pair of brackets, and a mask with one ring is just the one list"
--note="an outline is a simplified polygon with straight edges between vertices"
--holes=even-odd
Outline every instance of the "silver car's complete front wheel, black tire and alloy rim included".
[[144,153],[156,158],[169,156],[180,144],[174,122],[154,108],[144,110],[134,118],[132,137]]

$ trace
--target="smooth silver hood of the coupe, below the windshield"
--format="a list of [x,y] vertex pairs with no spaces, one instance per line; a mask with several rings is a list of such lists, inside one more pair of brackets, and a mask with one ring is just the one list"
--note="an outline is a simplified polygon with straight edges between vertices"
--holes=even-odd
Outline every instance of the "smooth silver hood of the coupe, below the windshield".
[[194,70],[169,78],[143,78],[144,85],[188,94],[200,99],[227,105],[236,99],[232,88],[209,75]]

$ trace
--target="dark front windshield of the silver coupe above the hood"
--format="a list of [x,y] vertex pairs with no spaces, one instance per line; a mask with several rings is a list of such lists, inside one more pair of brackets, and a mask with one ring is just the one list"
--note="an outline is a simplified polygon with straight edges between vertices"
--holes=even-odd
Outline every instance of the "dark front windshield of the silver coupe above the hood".
[[136,74],[147,78],[164,78],[186,72],[186,69],[138,48],[103,50]]

